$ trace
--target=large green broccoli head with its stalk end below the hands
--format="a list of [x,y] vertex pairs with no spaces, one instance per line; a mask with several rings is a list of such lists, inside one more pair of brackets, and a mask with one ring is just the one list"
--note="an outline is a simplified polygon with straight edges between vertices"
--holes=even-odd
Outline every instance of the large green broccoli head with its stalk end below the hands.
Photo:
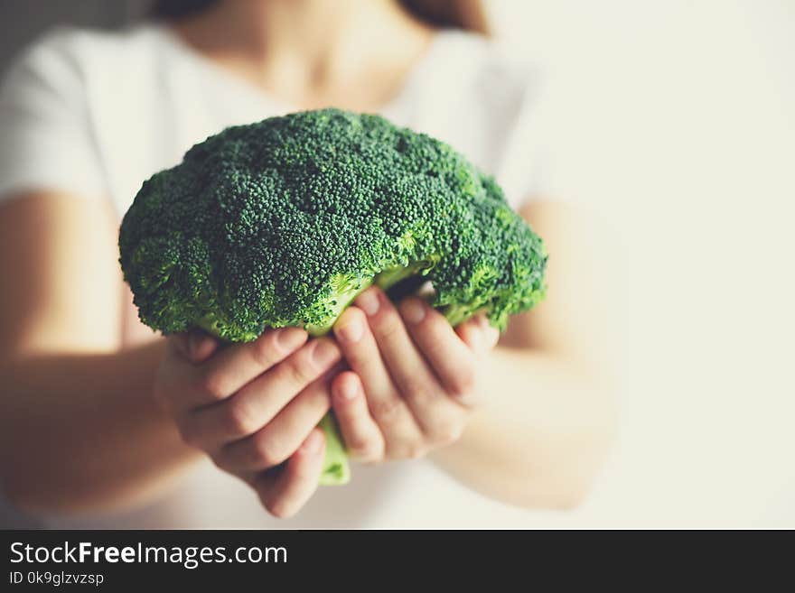
[[[323,335],[372,283],[429,282],[452,324],[484,311],[498,329],[545,292],[544,245],[490,176],[426,134],[338,109],[196,144],[144,182],[119,248],[146,325],[232,342],[285,326]],[[333,419],[322,425],[322,483],[344,483]]]

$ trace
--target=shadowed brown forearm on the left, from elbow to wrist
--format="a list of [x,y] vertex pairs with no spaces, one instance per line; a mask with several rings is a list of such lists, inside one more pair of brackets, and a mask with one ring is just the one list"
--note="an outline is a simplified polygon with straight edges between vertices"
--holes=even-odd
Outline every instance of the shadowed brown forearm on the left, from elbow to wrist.
[[151,397],[163,343],[0,366],[0,478],[36,513],[101,511],[155,496],[198,453]]

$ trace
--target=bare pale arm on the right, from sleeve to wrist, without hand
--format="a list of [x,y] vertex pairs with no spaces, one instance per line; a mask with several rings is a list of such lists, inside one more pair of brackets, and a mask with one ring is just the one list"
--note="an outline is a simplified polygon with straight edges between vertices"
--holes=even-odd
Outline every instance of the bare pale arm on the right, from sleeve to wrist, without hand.
[[615,284],[597,221],[540,202],[522,212],[550,254],[547,300],[511,320],[483,357],[483,405],[442,468],[483,494],[531,507],[582,501],[613,436]]

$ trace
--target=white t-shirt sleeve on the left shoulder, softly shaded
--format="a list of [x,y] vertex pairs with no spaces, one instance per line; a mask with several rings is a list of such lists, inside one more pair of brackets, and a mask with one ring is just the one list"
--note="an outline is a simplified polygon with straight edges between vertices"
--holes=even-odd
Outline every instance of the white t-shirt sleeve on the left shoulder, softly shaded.
[[19,190],[106,194],[72,35],[34,42],[0,86],[0,200]]

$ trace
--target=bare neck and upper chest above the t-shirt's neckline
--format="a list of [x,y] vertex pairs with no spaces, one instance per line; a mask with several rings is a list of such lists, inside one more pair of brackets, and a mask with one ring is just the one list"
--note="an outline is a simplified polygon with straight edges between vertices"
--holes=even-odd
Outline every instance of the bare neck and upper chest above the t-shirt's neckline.
[[394,96],[434,33],[397,0],[221,0],[174,28],[285,104],[354,110]]

